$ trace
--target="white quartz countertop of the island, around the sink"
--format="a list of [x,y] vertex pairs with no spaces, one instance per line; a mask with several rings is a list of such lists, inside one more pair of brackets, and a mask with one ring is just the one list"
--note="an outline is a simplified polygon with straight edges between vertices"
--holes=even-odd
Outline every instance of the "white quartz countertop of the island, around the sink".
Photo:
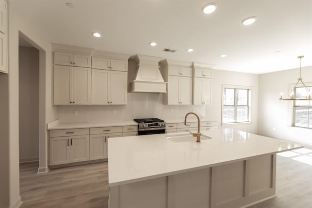
[[173,142],[168,134],[108,139],[109,186],[213,167],[257,155],[277,153],[303,146],[253,133],[219,129],[202,134],[212,139],[200,143]]

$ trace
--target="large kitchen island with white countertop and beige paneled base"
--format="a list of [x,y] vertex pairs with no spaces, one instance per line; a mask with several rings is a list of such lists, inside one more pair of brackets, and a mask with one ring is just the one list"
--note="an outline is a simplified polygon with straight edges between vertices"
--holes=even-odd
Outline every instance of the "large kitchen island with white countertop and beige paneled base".
[[233,129],[108,140],[110,208],[240,208],[275,196],[276,153],[302,148]]

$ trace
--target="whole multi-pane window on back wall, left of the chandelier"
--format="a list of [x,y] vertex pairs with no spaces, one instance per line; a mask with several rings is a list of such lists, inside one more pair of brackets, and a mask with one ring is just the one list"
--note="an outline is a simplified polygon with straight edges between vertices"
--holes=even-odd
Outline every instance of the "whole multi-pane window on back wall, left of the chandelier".
[[250,87],[223,86],[222,124],[250,121]]

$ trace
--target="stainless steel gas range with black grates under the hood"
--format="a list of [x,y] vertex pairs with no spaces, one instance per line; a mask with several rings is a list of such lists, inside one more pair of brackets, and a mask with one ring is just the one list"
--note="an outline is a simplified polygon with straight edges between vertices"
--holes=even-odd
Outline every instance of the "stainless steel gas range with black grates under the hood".
[[158,118],[137,118],[137,135],[165,133],[166,122]]

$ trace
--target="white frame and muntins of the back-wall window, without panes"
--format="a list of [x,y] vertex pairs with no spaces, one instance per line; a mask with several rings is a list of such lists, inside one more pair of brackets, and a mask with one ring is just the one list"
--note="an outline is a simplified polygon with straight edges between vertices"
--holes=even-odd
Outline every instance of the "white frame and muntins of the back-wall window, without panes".
[[[224,105],[224,89],[234,89],[234,105]],[[237,105],[237,90],[248,90],[247,95],[247,105]],[[221,125],[233,125],[233,124],[246,124],[251,123],[251,98],[252,98],[252,87],[251,86],[240,86],[240,85],[222,85],[222,96],[221,96]],[[223,107],[224,106],[234,106],[234,119],[235,122],[224,123],[223,121]],[[247,106],[248,108],[248,121],[237,122],[237,106]]]

